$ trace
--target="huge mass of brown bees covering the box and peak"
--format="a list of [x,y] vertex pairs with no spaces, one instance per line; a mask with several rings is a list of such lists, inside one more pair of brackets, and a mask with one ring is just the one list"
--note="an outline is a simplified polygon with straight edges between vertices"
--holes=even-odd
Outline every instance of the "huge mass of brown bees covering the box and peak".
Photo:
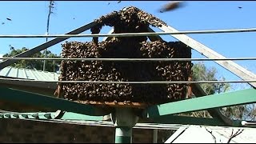
[[[114,26],[114,33],[147,32],[149,25],[166,23],[135,7],[113,12],[95,20],[91,28],[98,34],[102,26]],[[182,42],[146,42],[146,36],[118,37],[110,41],[66,42],[62,58],[191,58],[190,47]],[[191,62],[62,61],[60,81],[187,81]],[[142,102],[159,104],[186,97],[188,84],[58,83],[63,97],[72,101]]]

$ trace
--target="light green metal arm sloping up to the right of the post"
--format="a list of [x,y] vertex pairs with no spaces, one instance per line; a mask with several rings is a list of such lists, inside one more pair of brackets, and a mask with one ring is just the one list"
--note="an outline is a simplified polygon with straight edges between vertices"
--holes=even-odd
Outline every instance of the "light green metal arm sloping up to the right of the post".
[[181,114],[254,102],[256,102],[255,89],[237,90],[230,93],[212,94],[201,98],[191,98],[158,106],[150,106],[144,110],[144,116],[146,118],[154,118],[170,114]]

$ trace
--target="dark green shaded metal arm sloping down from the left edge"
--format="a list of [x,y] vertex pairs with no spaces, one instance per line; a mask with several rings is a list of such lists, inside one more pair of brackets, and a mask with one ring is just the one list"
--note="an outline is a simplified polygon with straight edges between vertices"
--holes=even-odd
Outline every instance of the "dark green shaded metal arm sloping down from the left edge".
[[65,99],[53,98],[42,94],[28,93],[22,90],[0,87],[0,99],[10,102],[19,102],[31,106],[42,106],[56,110],[65,110],[90,116],[102,116],[111,113],[111,109],[71,102]]

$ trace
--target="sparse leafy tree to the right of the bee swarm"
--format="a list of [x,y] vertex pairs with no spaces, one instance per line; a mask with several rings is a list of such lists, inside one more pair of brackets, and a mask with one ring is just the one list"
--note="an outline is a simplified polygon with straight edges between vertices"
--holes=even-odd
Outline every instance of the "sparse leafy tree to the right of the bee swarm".
[[[193,70],[193,80],[194,81],[216,81],[217,70],[214,67],[207,69],[202,63],[194,63],[192,67]],[[225,78],[221,78],[225,80]],[[231,86],[229,83],[201,83],[200,86],[206,94],[219,94],[230,90]],[[238,105],[238,106],[228,106],[221,109],[222,114],[226,115],[228,118],[232,119],[249,119],[254,120],[256,117],[255,105]],[[186,113],[181,115],[190,115],[194,117],[210,118],[210,114],[206,110]]]

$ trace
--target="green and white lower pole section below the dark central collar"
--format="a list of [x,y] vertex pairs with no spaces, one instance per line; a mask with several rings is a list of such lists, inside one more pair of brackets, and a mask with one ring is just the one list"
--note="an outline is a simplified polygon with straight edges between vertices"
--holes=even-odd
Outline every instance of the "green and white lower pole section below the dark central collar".
[[131,143],[132,127],[122,126],[115,128],[115,143]]

